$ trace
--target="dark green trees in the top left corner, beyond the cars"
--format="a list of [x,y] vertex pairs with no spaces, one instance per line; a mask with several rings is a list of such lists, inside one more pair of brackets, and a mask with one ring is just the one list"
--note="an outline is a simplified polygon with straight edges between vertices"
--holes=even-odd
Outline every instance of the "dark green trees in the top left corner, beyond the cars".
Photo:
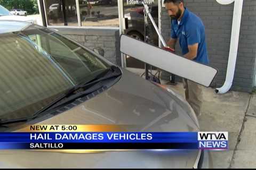
[[20,8],[27,11],[28,14],[38,14],[37,0],[0,0],[0,5],[12,10],[13,8]]

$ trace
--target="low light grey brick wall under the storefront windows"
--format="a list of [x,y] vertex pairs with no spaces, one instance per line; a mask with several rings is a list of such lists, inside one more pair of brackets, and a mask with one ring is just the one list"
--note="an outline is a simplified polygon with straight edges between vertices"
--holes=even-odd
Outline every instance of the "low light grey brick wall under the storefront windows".
[[121,65],[119,29],[98,28],[55,28],[61,33],[90,49],[101,47],[104,57],[111,63]]

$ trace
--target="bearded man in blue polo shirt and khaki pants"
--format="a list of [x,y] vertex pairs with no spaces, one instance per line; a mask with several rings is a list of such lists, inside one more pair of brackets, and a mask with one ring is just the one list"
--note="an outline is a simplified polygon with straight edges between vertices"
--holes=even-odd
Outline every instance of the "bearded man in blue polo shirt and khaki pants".
[[[164,4],[167,13],[172,19],[171,39],[167,42],[167,45],[175,49],[175,44],[179,39],[184,57],[202,64],[209,64],[205,28],[202,20],[184,6],[183,0],[164,0]],[[194,109],[196,115],[201,115],[201,86],[186,79],[183,79],[183,84],[186,100]]]

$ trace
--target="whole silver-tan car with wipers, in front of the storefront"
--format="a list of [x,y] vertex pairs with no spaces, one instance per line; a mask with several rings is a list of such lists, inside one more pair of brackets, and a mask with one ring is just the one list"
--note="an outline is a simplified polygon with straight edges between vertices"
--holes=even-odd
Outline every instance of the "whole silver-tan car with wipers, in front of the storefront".
[[[197,132],[188,103],[53,30],[0,21],[0,130],[30,124],[134,125]],[[1,168],[201,168],[201,150],[1,150]]]

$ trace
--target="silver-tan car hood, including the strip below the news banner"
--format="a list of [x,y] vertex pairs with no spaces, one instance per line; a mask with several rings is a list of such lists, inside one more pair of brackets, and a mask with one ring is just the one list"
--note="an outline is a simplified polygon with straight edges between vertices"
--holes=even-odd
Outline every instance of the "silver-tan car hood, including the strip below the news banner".
[[[183,101],[138,75],[123,70],[111,88],[38,124],[133,125],[127,131],[198,131]],[[186,107],[185,107],[186,108]],[[198,150],[6,150],[1,167],[191,168]]]

